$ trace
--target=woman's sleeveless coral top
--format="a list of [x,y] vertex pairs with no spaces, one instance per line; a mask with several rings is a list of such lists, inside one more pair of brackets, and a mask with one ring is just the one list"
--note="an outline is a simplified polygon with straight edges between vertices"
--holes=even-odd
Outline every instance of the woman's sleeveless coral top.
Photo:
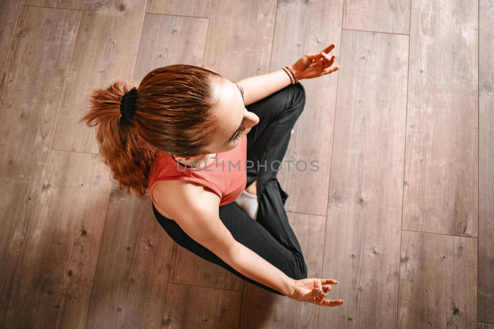
[[[190,181],[205,185],[220,197],[220,206],[233,202],[246,188],[247,136],[235,148],[218,153],[206,162],[176,161],[170,154],[158,152],[149,175],[149,193],[153,201],[153,187],[162,181]],[[156,203],[156,201],[155,201]]]

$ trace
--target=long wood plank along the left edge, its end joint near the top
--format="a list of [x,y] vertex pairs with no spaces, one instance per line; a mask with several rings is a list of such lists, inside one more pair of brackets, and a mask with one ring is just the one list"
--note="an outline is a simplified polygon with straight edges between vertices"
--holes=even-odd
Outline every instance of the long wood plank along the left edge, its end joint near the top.
[[[81,12],[22,7],[0,86],[0,327],[12,321]],[[43,26],[43,29],[40,29]]]

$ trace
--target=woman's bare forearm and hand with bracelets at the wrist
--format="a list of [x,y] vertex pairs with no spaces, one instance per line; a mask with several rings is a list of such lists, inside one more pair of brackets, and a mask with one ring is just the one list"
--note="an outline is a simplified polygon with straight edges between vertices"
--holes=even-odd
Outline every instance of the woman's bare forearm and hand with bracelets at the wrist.
[[[341,65],[330,68],[333,64],[334,56],[329,56],[327,53],[333,49],[334,44],[331,44],[319,53],[306,54],[289,67],[295,72],[298,80],[334,72],[340,69]],[[290,83],[291,79],[283,69],[271,73],[251,76],[237,82],[237,84],[244,88],[246,106],[285,88]]]

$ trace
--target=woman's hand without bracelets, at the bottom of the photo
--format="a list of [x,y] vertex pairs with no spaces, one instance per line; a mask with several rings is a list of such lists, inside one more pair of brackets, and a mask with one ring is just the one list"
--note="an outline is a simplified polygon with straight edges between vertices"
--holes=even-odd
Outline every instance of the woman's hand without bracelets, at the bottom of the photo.
[[290,298],[298,301],[307,301],[322,306],[339,306],[343,304],[343,299],[324,299],[331,290],[331,286],[336,285],[338,281],[333,279],[307,278],[295,280],[293,293]]

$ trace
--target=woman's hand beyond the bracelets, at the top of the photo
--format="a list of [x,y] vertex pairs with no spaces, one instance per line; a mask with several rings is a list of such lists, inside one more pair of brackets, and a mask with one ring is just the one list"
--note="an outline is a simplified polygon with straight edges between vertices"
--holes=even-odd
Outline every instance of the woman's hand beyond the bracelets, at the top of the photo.
[[333,49],[334,43],[320,53],[305,54],[295,64],[291,65],[290,68],[297,74],[299,80],[309,79],[339,70],[341,65],[330,68],[334,62],[334,56],[329,56],[328,53]]

